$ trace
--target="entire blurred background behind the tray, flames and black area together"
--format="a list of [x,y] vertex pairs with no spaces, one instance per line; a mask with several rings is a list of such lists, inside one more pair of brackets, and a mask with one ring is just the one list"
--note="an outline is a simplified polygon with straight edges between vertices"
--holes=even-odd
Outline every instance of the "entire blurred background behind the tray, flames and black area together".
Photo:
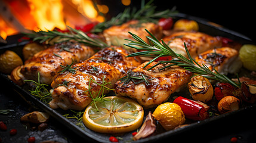
[[[148,2],[145,0],[145,2]],[[255,41],[254,5],[251,2],[164,1],[153,2],[158,10],[171,9],[205,18]],[[0,0],[0,35],[3,39],[26,30],[64,30],[91,21],[104,21],[124,11],[140,8],[140,0]],[[95,8],[97,7],[97,8]],[[103,15],[101,15],[102,13]]]

